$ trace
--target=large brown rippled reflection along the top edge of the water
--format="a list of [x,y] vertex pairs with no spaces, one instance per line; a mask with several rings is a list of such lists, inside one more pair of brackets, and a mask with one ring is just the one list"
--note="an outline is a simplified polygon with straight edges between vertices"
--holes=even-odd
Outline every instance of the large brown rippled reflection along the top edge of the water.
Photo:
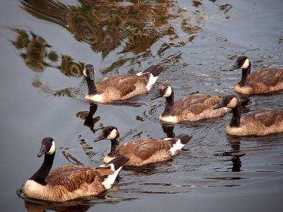
[[[21,8],[32,16],[46,20],[69,30],[79,42],[86,42],[93,52],[108,55],[122,43],[122,52],[139,54],[146,52],[156,40],[166,35],[174,35],[168,45],[178,40],[175,28],[168,24],[185,12],[177,8],[175,2],[154,1],[80,1],[80,6],[68,6],[59,1],[20,1]],[[197,4],[194,4],[197,6]],[[173,11],[171,9],[173,8]],[[171,12],[171,14],[170,14]],[[202,19],[201,16],[197,16]],[[194,34],[202,30],[184,18],[182,28]],[[192,42],[194,37],[190,37]],[[185,45],[183,40],[175,43]],[[165,45],[167,48],[167,45]]]

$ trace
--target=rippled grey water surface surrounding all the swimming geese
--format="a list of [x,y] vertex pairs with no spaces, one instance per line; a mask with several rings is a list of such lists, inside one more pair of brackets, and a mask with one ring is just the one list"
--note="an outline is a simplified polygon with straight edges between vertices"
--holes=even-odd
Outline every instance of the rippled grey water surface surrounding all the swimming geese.
[[[156,84],[171,83],[175,99],[235,94],[241,71],[228,70],[238,56],[250,57],[253,71],[283,67],[282,11],[281,0],[1,2],[1,211],[282,211],[283,134],[228,136],[231,113],[163,124],[156,88],[96,108],[84,100],[81,72],[93,64],[98,80],[160,64]],[[282,109],[283,93],[250,101],[243,114]],[[98,166],[110,141],[93,140],[108,125],[122,142],[193,137],[172,160],[123,168],[96,199],[25,201],[21,186],[42,164],[42,138],[57,142],[53,168]]]

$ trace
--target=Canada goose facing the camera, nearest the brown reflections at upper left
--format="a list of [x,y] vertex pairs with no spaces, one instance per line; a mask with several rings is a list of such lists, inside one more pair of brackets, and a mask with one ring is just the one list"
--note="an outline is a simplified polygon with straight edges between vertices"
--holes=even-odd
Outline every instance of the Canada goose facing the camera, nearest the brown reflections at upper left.
[[126,100],[135,95],[148,93],[161,71],[163,67],[155,65],[137,75],[108,76],[95,83],[93,65],[87,64],[83,70],[88,83],[88,93],[85,98],[105,103],[113,100]]

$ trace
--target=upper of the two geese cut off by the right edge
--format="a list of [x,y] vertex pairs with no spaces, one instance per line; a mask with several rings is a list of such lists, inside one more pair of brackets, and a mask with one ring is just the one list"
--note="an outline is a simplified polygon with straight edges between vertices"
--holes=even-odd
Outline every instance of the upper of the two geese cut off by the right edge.
[[241,81],[234,88],[236,92],[251,95],[283,89],[283,69],[260,69],[250,73],[251,66],[250,59],[241,56],[231,67],[230,71],[242,69]]

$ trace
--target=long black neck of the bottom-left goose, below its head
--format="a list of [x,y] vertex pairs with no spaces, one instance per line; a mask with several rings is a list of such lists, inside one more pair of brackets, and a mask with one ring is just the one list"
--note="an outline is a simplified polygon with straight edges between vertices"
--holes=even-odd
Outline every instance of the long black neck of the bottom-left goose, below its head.
[[35,172],[35,174],[32,177],[30,177],[30,179],[34,180],[39,184],[46,185],[45,179],[51,170],[54,156],[55,153],[53,153],[52,155],[45,154],[45,160],[43,161],[40,169],[37,170],[37,172]]

